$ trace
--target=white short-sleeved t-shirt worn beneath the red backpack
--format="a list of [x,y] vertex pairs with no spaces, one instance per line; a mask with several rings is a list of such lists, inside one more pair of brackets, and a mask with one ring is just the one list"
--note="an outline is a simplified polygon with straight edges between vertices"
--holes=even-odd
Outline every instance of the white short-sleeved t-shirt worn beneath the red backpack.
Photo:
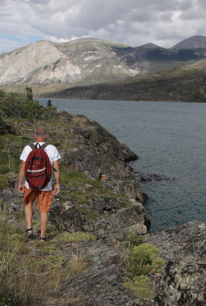
[[[37,142],[34,143],[34,145],[36,145]],[[45,142],[38,142],[40,144],[40,146],[42,146]],[[38,145],[37,145],[38,146]],[[21,160],[26,161],[27,157],[29,155],[29,153],[32,151],[32,148],[30,146],[26,146],[23,149],[22,155],[20,157]],[[47,153],[49,160],[51,162],[51,165],[53,165],[53,161],[55,160],[59,160],[61,158],[61,156],[59,155],[59,152],[57,151],[55,146],[52,145],[48,145],[46,146],[46,148],[44,149],[44,151]],[[53,169],[52,169],[53,172]],[[27,181],[25,180],[25,187],[29,188],[29,184],[27,183]],[[52,177],[50,182],[48,183],[47,187],[42,188],[42,191],[46,191],[46,190],[52,190]]]

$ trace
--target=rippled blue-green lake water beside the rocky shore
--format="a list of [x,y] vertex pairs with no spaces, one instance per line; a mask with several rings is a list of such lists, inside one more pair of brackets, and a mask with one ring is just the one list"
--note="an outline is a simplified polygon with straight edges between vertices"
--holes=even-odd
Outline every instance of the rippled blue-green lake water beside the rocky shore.
[[[38,99],[46,106],[48,99]],[[51,99],[73,114],[98,121],[134,151],[135,172],[173,177],[141,182],[150,231],[206,222],[206,104],[184,102]]]

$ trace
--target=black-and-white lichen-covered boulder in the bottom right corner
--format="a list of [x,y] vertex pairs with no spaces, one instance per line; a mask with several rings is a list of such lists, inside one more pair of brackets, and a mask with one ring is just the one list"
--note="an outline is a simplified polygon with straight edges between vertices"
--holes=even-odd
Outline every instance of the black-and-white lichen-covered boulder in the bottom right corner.
[[206,264],[169,260],[155,285],[156,306],[206,305]]

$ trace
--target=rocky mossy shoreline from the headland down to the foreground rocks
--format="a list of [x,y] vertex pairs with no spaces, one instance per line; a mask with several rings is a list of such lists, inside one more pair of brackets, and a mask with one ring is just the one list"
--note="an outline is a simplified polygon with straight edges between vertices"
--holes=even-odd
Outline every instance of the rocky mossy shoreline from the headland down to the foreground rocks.
[[[90,269],[68,281],[63,297],[66,299],[73,292],[74,304],[85,306],[206,305],[206,225],[195,221],[147,234],[150,218],[144,201],[148,197],[127,164],[137,159],[137,155],[96,121],[83,115],[61,112],[50,122],[11,120],[6,141],[13,156],[19,154],[19,143],[22,150],[25,139],[29,143],[34,141],[34,131],[39,125],[47,128],[48,143],[57,146],[61,155],[61,194],[53,196],[51,224],[97,238],[61,246],[65,258],[86,254],[85,260],[90,263]],[[5,146],[1,147],[2,154],[6,150]],[[24,220],[14,216],[23,209],[22,195],[17,191],[18,175],[10,172],[0,176],[1,209],[8,211],[5,218],[13,224],[22,224]],[[33,210],[34,219],[39,220],[37,202]],[[165,260],[161,273],[148,273],[153,282],[154,300],[137,298],[133,290],[123,285],[129,279],[118,261],[121,250],[117,242],[130,232],[145,235],[144,243],[157,247]]]

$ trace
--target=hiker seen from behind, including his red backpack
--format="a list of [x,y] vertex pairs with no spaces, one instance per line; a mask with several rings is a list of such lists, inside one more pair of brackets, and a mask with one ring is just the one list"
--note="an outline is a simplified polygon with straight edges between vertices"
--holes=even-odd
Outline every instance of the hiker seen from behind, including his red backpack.
[[[55,170],[56,185],[55,195],[60,193],[59,159],[61,156],[55,146],[46,144],[47,130],[38,127],[34,137],[37,142],[24,148],[20,159],[22,165],[19,171],[18,191],[24,193],[25,215],[27,219],[28,235],[32,234],[33,203],[37,196],[38,209],[40,211],[40,241],[45,241],[45,232],[48,224],[48,211],[52,203],[52,166]],[[25,180],[25,187],[23,180]]]

